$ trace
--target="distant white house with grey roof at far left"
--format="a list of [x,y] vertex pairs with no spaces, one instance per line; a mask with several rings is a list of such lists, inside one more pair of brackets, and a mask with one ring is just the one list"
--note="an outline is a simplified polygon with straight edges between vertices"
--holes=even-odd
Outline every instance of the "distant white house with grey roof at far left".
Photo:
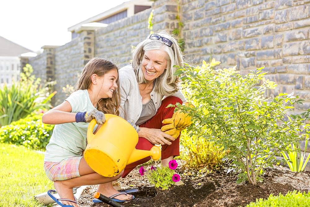
[[32,52],[0,36],[0,87],[19,81],[20,58],[22,53]]

